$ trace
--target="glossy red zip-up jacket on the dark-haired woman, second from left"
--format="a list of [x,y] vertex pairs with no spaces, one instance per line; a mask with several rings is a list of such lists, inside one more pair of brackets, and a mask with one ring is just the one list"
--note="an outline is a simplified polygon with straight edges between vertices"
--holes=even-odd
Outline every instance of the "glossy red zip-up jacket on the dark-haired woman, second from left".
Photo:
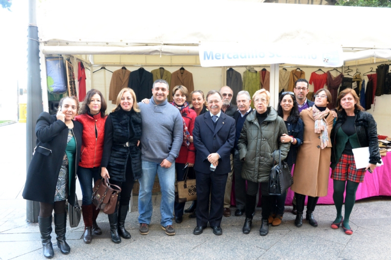
[[[87,114],[75,117],[76,121],[83,124],[82,153],[79,166],[85,168],[101,166],[106,119],[107,117],[102,118],[101,113],[93,117]],[[95,127],[98,138],[95,137]]]

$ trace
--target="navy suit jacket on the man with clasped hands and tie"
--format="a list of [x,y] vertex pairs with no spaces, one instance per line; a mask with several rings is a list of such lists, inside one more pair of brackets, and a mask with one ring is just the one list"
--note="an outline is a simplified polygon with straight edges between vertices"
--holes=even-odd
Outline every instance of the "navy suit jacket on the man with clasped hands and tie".
[[235,143],[235,120],[224,113],[220,114],[216,128],[210,113],[195,118],[193,142],[195,146],[195,171],[205,174],[211,173],[208,156],[218,153],[220,159],[215,170],[217,174],[226,174],[231,171],[231,150]]

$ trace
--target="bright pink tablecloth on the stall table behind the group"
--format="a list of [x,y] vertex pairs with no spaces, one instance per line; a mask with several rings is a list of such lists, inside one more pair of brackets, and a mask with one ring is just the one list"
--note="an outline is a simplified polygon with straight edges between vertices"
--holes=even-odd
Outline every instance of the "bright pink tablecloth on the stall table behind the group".
[[[375,196],[391,196],[391,152],[382,157],[384,165],[376,167],[372,174],[366,172],[364,182],[357,188],[356,200]],[[293,169],[292,169],[293,172]],[[331,176],[331,168],[330,168]],[[234,184],[232,185],[231,204],[235,205]],[[334,204],[333,201],[333,180],[328,180],[327,196],[320,197],[318,204]],[[288,189],[285,205],[292,205],[293,191]]]

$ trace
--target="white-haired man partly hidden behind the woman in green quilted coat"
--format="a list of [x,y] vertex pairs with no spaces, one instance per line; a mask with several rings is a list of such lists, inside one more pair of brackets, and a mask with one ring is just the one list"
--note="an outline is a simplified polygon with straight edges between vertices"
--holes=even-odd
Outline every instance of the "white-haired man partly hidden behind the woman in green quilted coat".
[[246,204],[246,180],[241,178],[241,168],[243,161],[239,158],[238,140],[240,137],[241,129],[243,128],[244,121],[247,115],[253,110],[250,106],[251,97],[248,91],[239,91],[236,98],[239,110],[234,114],[235,125],[236,125],[236,136],[234,145],[234,169],[235,169],[235,201],[236,211],[235,216],[241,216],[244,213],[244,206]]

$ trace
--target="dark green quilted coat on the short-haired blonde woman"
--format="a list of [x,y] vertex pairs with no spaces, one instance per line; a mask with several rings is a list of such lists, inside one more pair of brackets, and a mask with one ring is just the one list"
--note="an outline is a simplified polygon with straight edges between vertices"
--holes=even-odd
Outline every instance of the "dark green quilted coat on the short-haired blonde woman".
[[244,121],[238,141],[239,158],[244,160],[241,177],[253,182],[267,182],[274,160],[278,162],[281,150],[281,160],[284,160],[289,152],[290,143],[280,142],[282,134],[288,134],[285,123],[277,115],[273,107],[261,126],[256,116],[257,111],[251,112]]

